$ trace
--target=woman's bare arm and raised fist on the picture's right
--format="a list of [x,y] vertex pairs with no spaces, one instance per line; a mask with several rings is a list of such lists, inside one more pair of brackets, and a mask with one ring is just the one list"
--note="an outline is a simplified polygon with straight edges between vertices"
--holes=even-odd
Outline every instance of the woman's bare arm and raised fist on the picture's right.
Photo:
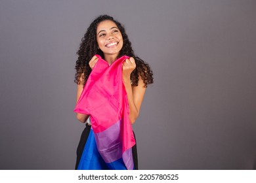
[[126,59],[123,62],[123,84],[125,85],[125,90],[127,92],[127,99],[130,110],[129,118],[131,120],[131,124],[134,124],[135,120],[139,116],[140,106],[146,92],[144,82],[140,76],[138,86],[131,86],[130,76],[135,67],[135,60],[133,58]]

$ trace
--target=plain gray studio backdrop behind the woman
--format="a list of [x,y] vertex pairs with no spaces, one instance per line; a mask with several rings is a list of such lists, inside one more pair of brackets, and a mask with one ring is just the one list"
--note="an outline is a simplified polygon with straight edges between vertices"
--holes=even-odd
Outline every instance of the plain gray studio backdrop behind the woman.
[[253,169],[256,1],[1,1],[0,169],[74,169],[75,52],[110,14],[154,71],[140,169]]

